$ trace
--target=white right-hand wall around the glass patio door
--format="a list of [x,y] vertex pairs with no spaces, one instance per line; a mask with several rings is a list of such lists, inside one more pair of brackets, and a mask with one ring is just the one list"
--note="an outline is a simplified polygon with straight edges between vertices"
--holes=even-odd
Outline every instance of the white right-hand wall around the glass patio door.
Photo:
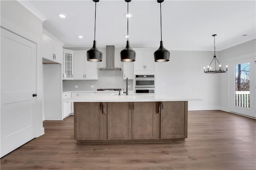
[[[256,52],[256,39],[220,51],[219,52],[220,63],[223,63],[222,65],[224,65],[225,63],[229,64],[228,61],[234,58],[241,57],[240,59],[242,59],[246,55],[252,54],[255,52]],[[221,88],[220,88],[219,100],[220,100],[220,109],[224,111],[230,111],[228,76],[229,76],[229,72],[222,73],[220,75]],[[255,79],[255,77],[250,77],[250,79]]]

